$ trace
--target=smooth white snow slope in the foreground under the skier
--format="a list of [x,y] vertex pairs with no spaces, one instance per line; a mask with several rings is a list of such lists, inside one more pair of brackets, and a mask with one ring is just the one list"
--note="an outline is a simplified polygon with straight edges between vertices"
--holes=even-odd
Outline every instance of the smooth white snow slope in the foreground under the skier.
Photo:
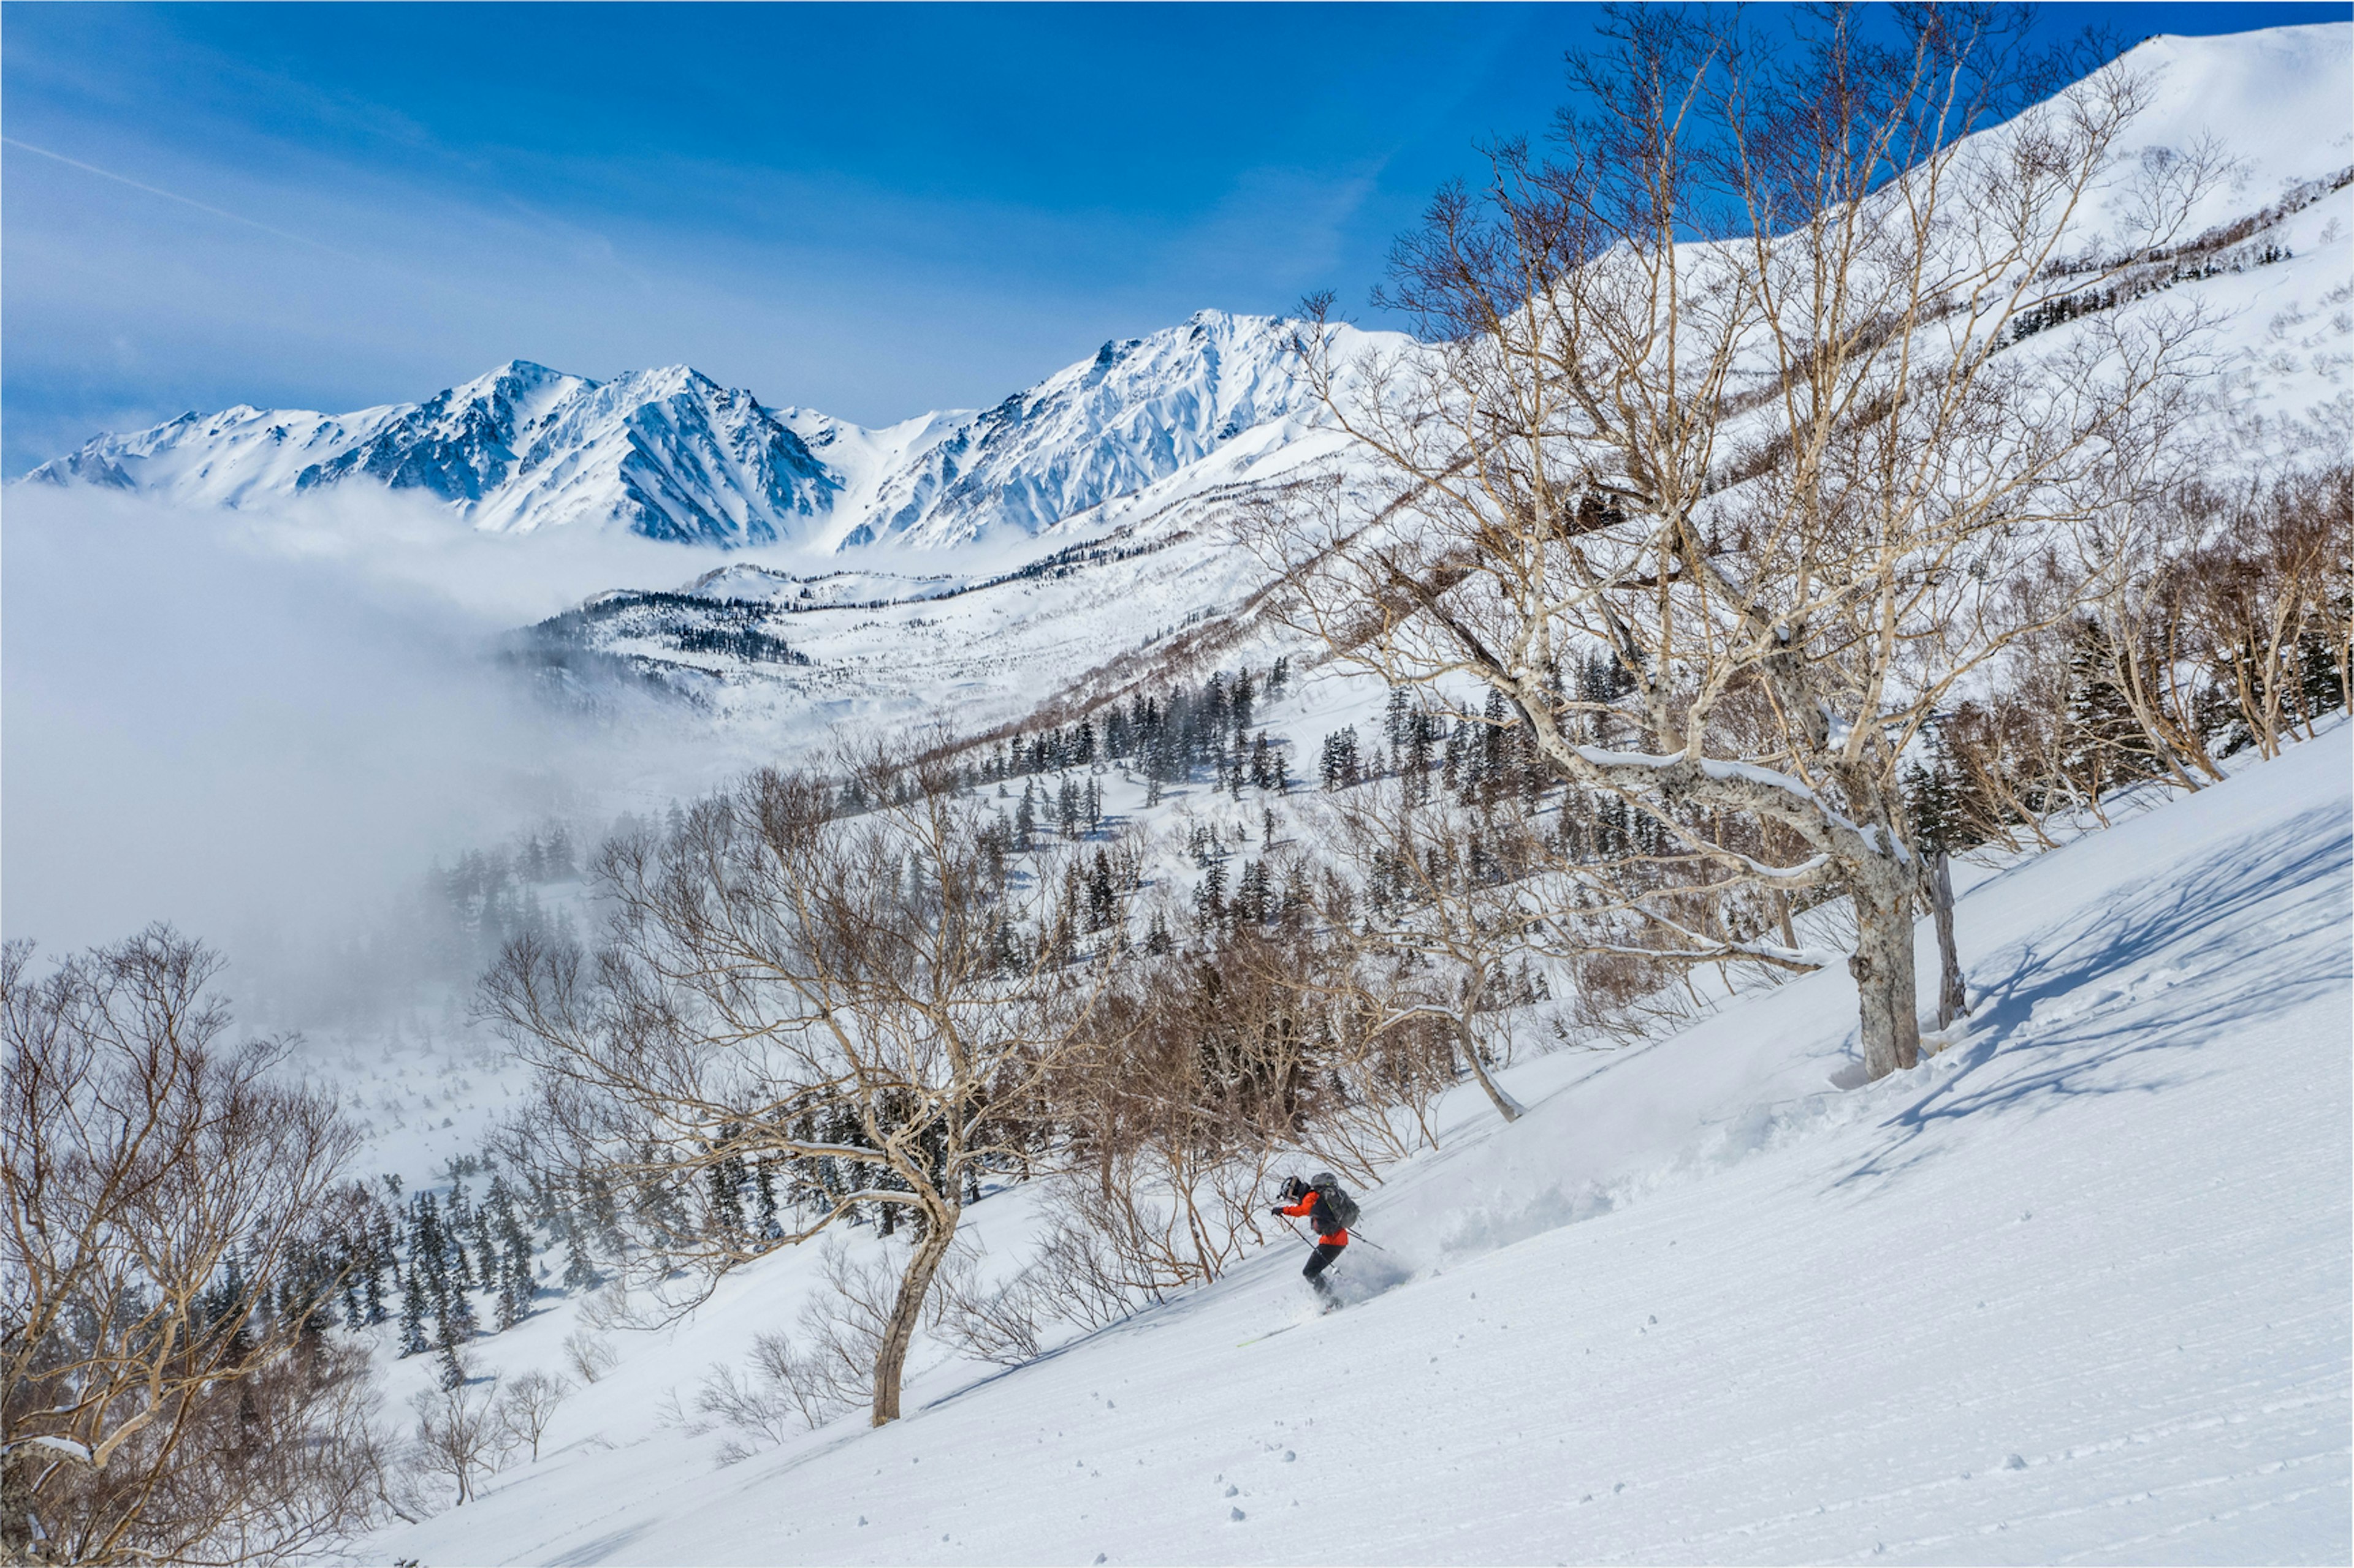
[[[1975,1017],[1914,1071],[1831,1085],[1855,1003],[1822,972],[1523,1059],[1511,1128],[1457,1092],[1365,1194],[1339,1314],[1271,1248],[723,1469],[657,1408],[791,1323],[786,1255],[619,1335],[537,1464],[363,1556],[2347,1561],[2349,737],[1973,869]],[[967,1224],[1038,1217],[1015,1189]]]

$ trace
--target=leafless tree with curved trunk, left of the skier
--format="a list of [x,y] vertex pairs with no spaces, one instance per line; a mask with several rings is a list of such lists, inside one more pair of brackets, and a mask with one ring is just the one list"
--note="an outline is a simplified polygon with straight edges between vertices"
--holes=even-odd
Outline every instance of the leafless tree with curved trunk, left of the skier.
[[[911,1220],[871,1368],[876,1424],[982,1170],[1010,1163],[1099,996],[1121,923],[1083,951],[1062,878],[989,852],[953,760],[871,758],[871,810],[760,772],[664,838],[612,843],[596,956],[513,944],[490,1015],[539,1067],[544,1156],[631,1194],[657,1300],[864,1208]],[[758,1229],[751,1161],[873,1172]]]

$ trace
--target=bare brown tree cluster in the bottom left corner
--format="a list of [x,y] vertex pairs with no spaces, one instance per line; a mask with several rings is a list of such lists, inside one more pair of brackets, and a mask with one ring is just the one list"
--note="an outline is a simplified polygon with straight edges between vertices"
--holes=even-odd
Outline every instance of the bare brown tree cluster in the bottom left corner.
[[330,1337],[355,1135],[226,1041],[165,925],[0,951],[0,1554],[275,1561],[367,1516],[367,1356]]

